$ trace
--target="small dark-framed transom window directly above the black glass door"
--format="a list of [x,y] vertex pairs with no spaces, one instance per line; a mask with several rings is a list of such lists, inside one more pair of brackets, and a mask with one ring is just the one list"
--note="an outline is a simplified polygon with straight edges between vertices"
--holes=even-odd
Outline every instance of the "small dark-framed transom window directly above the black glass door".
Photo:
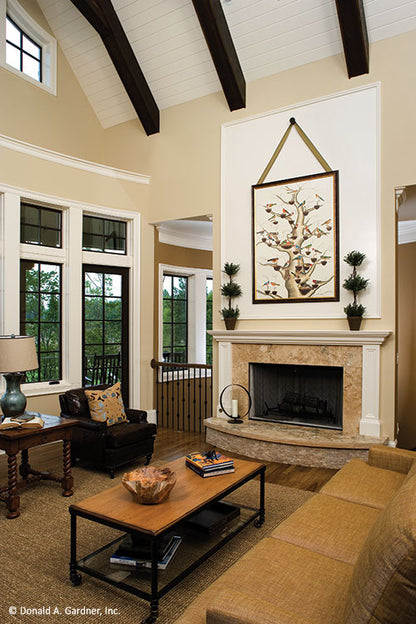
[[127,223],[84,215],[82,228],[84,251],[127,253]]

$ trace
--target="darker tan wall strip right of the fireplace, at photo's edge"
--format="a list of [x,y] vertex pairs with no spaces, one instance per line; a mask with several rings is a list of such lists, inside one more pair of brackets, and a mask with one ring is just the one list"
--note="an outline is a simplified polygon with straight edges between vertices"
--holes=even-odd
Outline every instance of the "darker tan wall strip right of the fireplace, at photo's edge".
[[399,365],[397,419],[399,444],[416,448],[416,243],[399,245],[397,253],[397,323]]

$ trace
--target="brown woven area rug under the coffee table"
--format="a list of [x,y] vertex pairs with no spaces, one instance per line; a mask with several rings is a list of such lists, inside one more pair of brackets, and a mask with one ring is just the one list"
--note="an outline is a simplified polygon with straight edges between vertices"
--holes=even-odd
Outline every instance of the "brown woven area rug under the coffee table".
[[[7,520],[5,505],[0,506],[3,624],[139,624],[149,613],[147,602],[85,574],[80,586],[70,583],[68,507],[118,482],[83,468],[74,468],[73,475],[71,498],[63,498],[56,483],[43,481],[21,490],[19,518]],[[259,484],[252,481],[232,499],[256,507],[258,496]],[[173,624],[205,587],[311,496],[311,492],[266,483],[265,524],[260,529],[248,526],[165,595],[159,603],[158,624]],[[113,530],[81,519],[78,556],[112,539]],[[93,609],[101,609],[101,615],[94,615]]]

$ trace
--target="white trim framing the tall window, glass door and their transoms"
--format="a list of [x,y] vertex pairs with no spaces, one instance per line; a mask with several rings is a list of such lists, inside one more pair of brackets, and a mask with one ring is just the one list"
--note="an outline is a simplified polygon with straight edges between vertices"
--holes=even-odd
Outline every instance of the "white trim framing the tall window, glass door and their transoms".
[[[33,201],[62,210],[62,248],[20,243],[20,203]],[[25,384],[26,396],[61,394],[79,388],[82,381],[82,265],[121,266],[129,274],[129,406],[140,405],[140,214],[103,206],[84,205],[56,197],[0,185],[0,333],[19,333],[20,260],[62,264],[62,379],[59,384]],[[113,255],[82,250],[82,217],[104,216],[127,222],[128,255]],[[4,391],[3,376],[0,392]]]

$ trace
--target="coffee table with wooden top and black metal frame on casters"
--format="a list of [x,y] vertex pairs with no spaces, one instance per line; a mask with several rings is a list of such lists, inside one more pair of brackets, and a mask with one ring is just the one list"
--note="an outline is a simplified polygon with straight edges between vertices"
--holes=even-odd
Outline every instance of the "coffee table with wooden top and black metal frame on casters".
[[[142,624],[152,624],[159,614],[159,599],[197,566],[217,552],[244,527],[254,522],[259,527],[265,520],[265,470],[257,462],[234,460],[235,472],[201,478],[185,466],[185,458],[168,464],[176,473],[177,482],[167,501],[160,505],[140,505],[123,487],[117,485],[70,506],[71,559],[70,580],[81,583],[80,571],[150,602],[150,615]],[[240,506],[240,516],[230,526],[213,536],[193,536],[183,529],[184,522],[207,507],[224,499],[248,481],[260,476],[259,506]],[[109,558],[122,539],[113,540],[98,550],[77,559],[77,517],[112,527],[133,536],[145,536],[151,543],[151,569],[115,569]],[[159,540],[172,530],[184,535],[174,559],[166,570],[157,566]],[[149,591],[150,587],[150,591]]]

